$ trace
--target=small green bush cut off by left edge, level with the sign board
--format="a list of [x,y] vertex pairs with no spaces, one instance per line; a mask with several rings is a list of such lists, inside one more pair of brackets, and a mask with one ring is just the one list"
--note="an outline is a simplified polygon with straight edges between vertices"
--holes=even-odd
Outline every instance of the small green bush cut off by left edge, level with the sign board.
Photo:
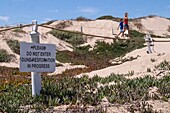
[[10,55],[6,50],[0,49],[0,62],[10,62],[13,58],[15,58],[14,55]]

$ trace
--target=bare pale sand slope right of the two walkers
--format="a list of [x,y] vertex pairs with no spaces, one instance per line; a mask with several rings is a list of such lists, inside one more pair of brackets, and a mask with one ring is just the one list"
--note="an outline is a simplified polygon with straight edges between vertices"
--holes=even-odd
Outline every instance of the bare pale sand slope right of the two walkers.
[[[158,36],[169,37],[170,36],[170,20],[159,16],[152,18],[146,17],[143,19],[137,19],[131,23],[132,29],[140,30],[143,33],[150,33]],[[138,26],[138,28],[137,28]],[[141,26],[141,29],[139,29]]]

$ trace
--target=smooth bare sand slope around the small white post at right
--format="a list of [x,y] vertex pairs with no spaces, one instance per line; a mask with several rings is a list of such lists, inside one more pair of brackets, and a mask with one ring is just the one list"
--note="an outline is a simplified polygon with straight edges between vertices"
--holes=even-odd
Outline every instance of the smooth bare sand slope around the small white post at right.
[[[155,40],[170,40],[170,39],[155,39]],[[145,74],[150,74],[147,72],[147,68],[150,68],[152,71],[154,67],[160,62],[166,60],[170,61],[170,42],[156,42],[153,48],[152,54],[147,54],[147,47],[138,49],[128,53],[125,57],[137,57],[136,60],[128,61],[120,65],[110,66],[101,70],[95,70],[90,73],[84,73],[89,76],[98,75],[101,77],[109,76],[111,73],[118,74],[127,74],[131,71],[134,71],[133,77],[140,77]],[[155,62],[152,62],[151,59],[154,59]],[[153,72],[154,75],[157,74],[157,71]],[[83,74],[81,74],[83,75]]]

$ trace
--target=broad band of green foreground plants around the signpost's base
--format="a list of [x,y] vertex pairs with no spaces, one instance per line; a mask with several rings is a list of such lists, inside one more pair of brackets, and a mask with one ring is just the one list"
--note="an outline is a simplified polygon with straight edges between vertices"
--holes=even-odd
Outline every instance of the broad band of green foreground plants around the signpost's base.
[[[43,76],[43,89],[39,97],[31,96],[31,86],[5,84],[0,90],[1,112],[27,112],[30,109],[43,111],[46,108],[59,105],[98,105],[104,97],[113,104],[146,101],[150,99],[148,89],[157,87],[162,97],[170,98],[170,76],[156,79],[151,76],[136,79],[126,79],[123,75],[111,74],[106,78],[94,76],[80,78]],[[114,82],[112,85],[108,83]],[[29,107],[26,107],[28,106]],[[23,109],[21,109],[23,108]],[[27,108],[27,109],[26,109]],[[40,112],[40,111],[39,111]]]

